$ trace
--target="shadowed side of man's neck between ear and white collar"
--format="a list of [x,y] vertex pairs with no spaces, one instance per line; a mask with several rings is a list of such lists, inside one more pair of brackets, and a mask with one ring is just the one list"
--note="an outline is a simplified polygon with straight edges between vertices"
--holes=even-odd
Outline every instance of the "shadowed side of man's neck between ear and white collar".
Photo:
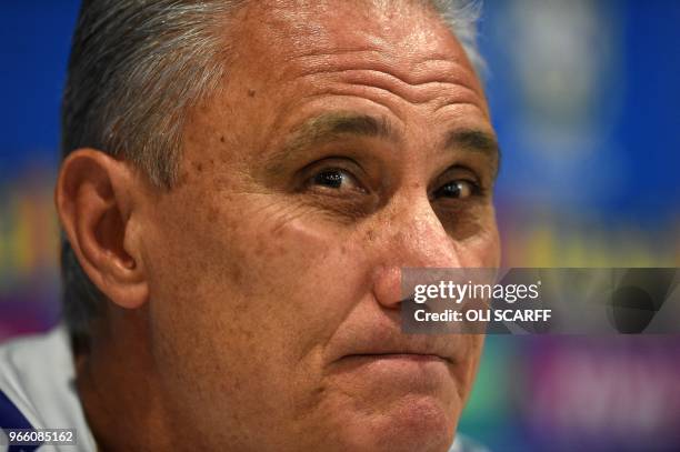
[[[140,310],[142,311],[142,310]],[[109,311],[76,354],[76,384],[100,451],[177,450],[146,313]]]

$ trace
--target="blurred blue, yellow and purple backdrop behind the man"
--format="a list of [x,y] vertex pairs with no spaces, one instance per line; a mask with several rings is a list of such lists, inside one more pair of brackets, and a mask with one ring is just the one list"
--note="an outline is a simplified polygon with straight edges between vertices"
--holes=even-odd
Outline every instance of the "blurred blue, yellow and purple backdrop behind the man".
[[[76,0],[0,6],[0,340],[59,319],[52,185]],[[509,267],[680,267],[680,2],[488,0]],[[460,431],[680,450],[680,338],[490,337]]]

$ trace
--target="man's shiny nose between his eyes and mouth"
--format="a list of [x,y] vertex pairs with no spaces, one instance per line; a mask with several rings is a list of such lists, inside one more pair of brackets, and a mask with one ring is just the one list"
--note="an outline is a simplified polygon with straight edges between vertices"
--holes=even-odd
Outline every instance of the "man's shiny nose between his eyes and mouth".
[[373,295],[386,309],[399,309],[404,268],[459,268],[460,250],[449,237],[427,193],[394,202],[377,219],[372,232],[376,265],[372,275]]

